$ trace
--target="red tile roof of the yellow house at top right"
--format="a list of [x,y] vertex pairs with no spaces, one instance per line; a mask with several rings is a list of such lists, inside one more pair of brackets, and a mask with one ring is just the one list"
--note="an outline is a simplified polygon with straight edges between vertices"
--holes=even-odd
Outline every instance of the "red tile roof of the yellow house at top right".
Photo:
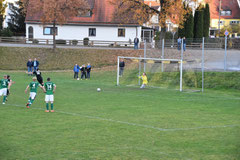
[[[219,18],[219,4],[220,0],[211,0],[210,5],[210,15],[211,19]],[[240,8],[237,0],[222,0],[222,10],[231,10],[232,15],[230,16],[221,16],[224,19],[240,19]]]

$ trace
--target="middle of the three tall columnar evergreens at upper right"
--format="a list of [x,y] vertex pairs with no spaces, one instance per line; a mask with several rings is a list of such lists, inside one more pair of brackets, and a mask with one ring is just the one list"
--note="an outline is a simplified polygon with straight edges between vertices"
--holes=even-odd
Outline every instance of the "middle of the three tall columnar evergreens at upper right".
[[194,38],[202,38],[203,37],[203,17],[204,13],[200,6],[194,16]]

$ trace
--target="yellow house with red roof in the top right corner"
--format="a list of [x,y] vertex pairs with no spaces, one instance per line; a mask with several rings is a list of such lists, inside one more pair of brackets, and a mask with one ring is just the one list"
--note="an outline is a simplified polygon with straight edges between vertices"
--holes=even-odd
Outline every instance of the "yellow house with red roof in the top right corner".
[[[221,2],[221,4],[220,4]],[[239,0],[212,0],[210,3],[210,36],[215,37],[224,26],[240,24],[240,1]],[[221,7],[221,8],[220,8]]]

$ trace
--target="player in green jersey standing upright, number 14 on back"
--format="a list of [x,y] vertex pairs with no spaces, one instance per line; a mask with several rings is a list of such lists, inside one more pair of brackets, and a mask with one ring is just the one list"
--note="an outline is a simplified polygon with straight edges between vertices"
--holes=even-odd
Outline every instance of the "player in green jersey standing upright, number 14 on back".
[[56,90],[56,85],[51,82],[50,78],[47,78],[47,82],[44,83],[44,89],[46,92],[46,96],[45,96],[45,102],[46,102],[46,108],[47,110],[45,112],[49,112],[49,105],[48,103],[51,103],[51,112],[54,112],[53,110],[53,102],[54,102],[54,93]]

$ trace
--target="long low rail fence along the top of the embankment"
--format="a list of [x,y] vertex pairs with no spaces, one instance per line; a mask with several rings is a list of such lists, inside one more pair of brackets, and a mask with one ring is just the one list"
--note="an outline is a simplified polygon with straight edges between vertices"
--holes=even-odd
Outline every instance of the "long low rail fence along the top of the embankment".
[[[164,41],[151,41],[147,43],[147,49],[178,49],[177,39],[165,39]],[[0,43],[13,43],[13,44],[32,44],[32,45],[52,45],[52,39],[29,39],[25,37],[0,37]],[[202,39],[186,39],[186,49],[201,50]],[[66,40],[57,39],[57,45],[61,46],[86,46],[86,47],[124,47],[133,48],[132,41],[100,41],[100,40]],[[140,42],[140,48],[144,48],[144,42]],[[221,50],[225,48],[225,38],[206,38],[206,50]],[[240,50],[240,38],[228,38],[227,49]]]

